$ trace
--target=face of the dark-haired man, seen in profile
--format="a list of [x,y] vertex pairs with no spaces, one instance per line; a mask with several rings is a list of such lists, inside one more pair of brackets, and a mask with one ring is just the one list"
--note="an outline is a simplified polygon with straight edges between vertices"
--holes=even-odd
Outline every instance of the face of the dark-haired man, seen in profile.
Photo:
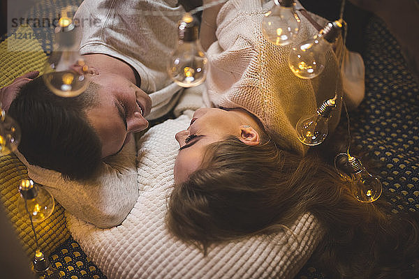
[[121,75],[101,73],[91,77],[100,86],[98,102],[86,111],[102,143],[102,158],[118,153],[130,133],[148,127],[144,118],[152,100],[147,93]]

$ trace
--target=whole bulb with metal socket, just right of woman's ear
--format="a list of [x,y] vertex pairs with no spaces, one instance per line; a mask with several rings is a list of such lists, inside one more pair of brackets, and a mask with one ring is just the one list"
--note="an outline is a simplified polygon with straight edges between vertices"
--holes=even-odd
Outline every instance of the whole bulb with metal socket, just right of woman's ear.
[[321,144],[328,136],[328,121],[335,107],[335,99],[325,100],[316,114],[307,118],[302,117],[295,126],[298,140],[309,146]]

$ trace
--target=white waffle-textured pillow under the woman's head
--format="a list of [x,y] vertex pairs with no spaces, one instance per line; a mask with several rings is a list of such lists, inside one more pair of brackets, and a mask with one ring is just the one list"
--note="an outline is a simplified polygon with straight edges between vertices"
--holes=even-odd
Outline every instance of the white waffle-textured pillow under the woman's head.
[[272,236],[255,236],[210,248],[209,255],[172,236],[165,224],[179,145],[175,133],[186,115],[151,128],[138,142],[138,200],[117,227],[98,229],[68,214],[68,228],[110,279],[293,278],[322,236],[309,213]]

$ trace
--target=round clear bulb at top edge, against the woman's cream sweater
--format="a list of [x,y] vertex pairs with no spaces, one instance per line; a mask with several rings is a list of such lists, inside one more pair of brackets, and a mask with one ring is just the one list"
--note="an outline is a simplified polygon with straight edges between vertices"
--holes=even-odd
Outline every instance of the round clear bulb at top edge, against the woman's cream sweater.
[[265,13],[262,20],[262,33],[274,45],[288,45],[300,30],[300,18],[295,13],[293,1],[282,1]]

